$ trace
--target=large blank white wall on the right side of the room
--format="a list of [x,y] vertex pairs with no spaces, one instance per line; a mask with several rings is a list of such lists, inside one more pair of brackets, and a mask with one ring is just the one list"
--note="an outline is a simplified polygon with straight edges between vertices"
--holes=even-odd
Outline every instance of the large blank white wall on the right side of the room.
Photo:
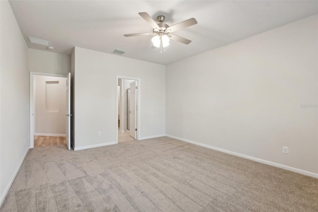
[[166,133],[318,177],[317,47],[315,15],[168,65]]

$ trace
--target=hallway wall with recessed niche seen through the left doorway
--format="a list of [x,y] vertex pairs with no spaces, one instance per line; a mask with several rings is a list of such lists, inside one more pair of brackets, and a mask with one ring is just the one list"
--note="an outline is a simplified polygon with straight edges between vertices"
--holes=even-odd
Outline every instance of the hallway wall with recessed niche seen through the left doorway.
[[65,136],[66,79],[34,75],[35,135]]

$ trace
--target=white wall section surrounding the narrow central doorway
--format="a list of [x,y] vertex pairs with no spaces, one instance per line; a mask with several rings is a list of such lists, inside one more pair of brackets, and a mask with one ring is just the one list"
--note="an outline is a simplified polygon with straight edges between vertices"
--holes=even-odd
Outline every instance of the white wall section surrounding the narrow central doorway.
[[116,75],[141,79],[141,138],[165,134],[165,66],[79,47],[75,52],[76,149],[116,141]]

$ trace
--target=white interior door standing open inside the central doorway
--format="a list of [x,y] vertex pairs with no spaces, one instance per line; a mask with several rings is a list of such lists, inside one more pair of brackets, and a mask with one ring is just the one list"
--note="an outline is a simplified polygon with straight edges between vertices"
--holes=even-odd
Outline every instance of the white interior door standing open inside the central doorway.
[[137,139],[137,81],[130,84],[130,136]]

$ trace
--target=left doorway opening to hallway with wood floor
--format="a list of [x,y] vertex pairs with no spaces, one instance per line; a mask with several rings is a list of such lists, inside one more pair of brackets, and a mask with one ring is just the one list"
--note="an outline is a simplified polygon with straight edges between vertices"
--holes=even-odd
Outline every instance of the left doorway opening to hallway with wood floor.
[[63,144],[70,149],[68,88],[69,75],[30,72],[30,148]]

